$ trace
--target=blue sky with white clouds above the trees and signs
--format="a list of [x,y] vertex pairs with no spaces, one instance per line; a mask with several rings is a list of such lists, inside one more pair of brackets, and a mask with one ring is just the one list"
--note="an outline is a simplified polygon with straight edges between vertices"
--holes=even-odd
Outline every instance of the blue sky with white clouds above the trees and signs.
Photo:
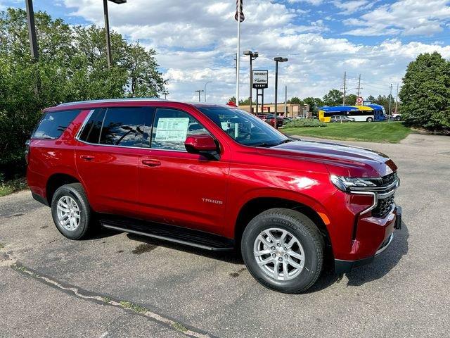
[[[255,67],[269,69],[266,98],[274,94],[274,56],[285,56],[280,87],[288,96],[323,96],[342,87],[350,94],[361,74],[362,95],[388,94],[401,85],[406,65],[422,52],[450,58],[450,0],[244,0],[241,49],[259,52]],[[0,0],[0,9],[24,7]],[[158,52],[169,80],[169,99],[195,100],[208,84],[208,101],[235,94],[234,0],[128,0],[110,3],[110,25],[130,41]],[[100,0],[34,0],[72,25],[103,25]],[[248,96],[248,58],[242,57],[241,97]],[[282,93],[279,93],[282,95]],[[395,93],[394,93],[395,94]]]

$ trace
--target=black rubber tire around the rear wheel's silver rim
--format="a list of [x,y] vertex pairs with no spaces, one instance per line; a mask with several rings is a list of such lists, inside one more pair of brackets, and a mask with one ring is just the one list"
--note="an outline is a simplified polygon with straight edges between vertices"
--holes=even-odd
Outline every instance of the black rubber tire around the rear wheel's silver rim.
[[[57,204],[63,196],[70,196],[79,208],[79,225],[75,230],[68,230],[60,224],[58,220]],[[92,211],[87,200],[86,193],[80,183],[65,184],[62,187],[56,189],[51,199],[51,215],[56,228],[64,237],[68,239],[82,239],[86,237],[86,234],[91,229],[92,223]]]

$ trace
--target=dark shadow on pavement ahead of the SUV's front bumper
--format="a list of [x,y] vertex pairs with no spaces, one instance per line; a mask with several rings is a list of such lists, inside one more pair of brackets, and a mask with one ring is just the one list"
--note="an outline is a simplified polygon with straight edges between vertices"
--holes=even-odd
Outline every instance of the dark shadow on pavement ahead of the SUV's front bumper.
[[347,273],[347,286],[359,287],[387,275],[399,263],[401,257],[408,253],[408,239],[408,227],[402,222],[401,230],[394,232],[392,243],[383,253],[380,253],[380,256],[376,257],[371,264],[363,265]]

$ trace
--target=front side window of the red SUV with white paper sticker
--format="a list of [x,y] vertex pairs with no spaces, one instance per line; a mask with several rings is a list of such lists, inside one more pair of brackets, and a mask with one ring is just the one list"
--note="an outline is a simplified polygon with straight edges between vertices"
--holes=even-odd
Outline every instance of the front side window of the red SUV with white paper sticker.
[[158,108],[153,123],[153,149],[186,151],[184,142],[191,135],[210,134],[198,120],[184,111]]

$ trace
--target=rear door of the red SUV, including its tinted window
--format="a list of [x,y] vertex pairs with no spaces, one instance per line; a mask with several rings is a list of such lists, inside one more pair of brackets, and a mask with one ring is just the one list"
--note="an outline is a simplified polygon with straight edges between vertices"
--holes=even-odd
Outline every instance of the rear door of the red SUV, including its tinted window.
[[146,120],[151,117],[148,107],[91,112],[79,134],[75,161],[94,210],[136,215],[139,158],[144,144],[149,144]]

